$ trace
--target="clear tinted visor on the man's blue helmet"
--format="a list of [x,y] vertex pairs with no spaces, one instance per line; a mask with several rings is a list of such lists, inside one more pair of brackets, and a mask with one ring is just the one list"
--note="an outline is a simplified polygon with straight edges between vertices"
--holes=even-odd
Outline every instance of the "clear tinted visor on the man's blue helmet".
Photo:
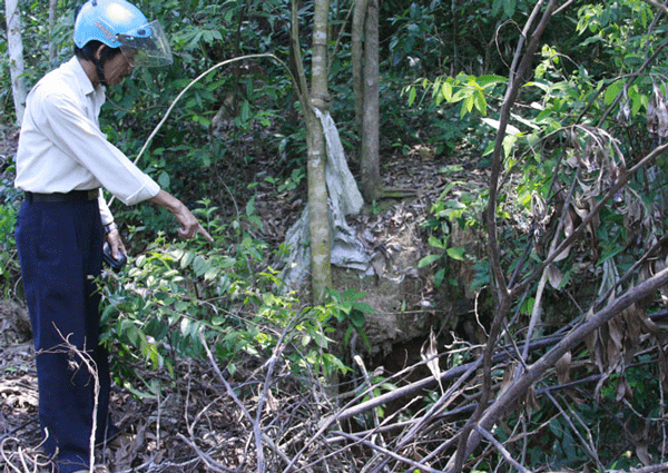
[[171,63],[171,49],[158,20],[117,37],[120,50],[134,67],[159,67]]

